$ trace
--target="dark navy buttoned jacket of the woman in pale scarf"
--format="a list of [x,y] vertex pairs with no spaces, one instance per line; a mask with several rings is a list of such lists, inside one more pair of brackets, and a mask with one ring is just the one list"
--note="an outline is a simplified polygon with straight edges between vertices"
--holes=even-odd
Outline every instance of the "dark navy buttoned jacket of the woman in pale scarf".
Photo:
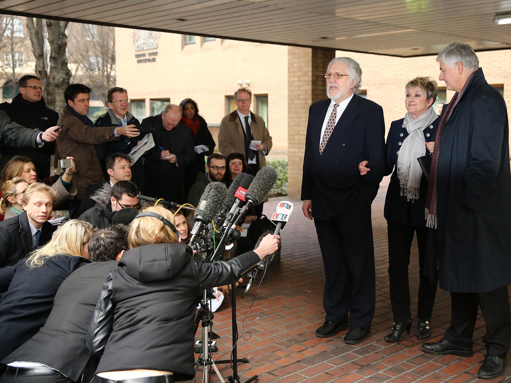
[[[385,208],[383,216],[388,222],[399,223],[411,226],[426,226],[424,207],[426,205],[426,194],[428,193],[428,180],[422,177],[421,187],[419,189],[419,199],[411,202],[406,200],[406,196],[401,195],[401,186],[398,179],[398,152],[401,144],[408,137],[408,131],[403,126],[404,118],[392,121],[390,130],[387,135],[387,169],[385,175],[390,177],[390,183],[387,188],[387,196],[385,197]],[[424,129],[424,155],[429,154],[426,149],[426,142],[434,141],[436,128],[440,118],[438,117]],[[371,170],[372,171],[372,170]],[[369,174],[369,171],[367,174]]]

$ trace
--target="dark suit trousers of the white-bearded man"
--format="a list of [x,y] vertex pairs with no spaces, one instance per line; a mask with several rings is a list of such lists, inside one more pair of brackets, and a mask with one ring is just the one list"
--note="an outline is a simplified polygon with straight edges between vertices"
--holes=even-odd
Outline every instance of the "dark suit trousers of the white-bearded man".
[[375,315],[375,250],[371,206],[356,206],[328,221],[314,219],[323,256],[326,320],[370,327]]

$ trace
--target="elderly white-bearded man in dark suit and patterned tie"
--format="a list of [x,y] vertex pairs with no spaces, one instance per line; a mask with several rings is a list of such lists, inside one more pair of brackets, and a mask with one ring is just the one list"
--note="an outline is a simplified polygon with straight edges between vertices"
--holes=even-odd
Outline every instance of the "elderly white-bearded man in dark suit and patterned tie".
[[[355,60],[333,59],[324,77],[328,99],[309,108],[301,186],[326,276],[326,318],[316,336],[331,337],[351,324],[344,343],[356,344],[367,338],[375,313],[371,203],[385,172],[383,109],[356,94],[362,70]],[[362,177],[363,160],[371,174]]]

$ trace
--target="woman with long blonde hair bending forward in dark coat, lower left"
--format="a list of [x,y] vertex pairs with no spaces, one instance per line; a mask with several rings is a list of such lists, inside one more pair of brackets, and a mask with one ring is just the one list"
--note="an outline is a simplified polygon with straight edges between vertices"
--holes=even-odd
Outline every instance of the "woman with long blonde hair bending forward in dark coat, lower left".
[[88,264],[94,227],[66,222],[52,240],[14,266],[0,271],[0,360],[32,338],[48,319],[60,284]]

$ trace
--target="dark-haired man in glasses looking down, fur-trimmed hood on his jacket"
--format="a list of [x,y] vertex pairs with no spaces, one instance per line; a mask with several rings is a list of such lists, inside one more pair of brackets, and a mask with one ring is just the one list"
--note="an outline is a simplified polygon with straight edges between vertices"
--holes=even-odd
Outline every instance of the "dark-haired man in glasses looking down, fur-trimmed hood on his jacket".
[[103,229],[112,224],[112,217],[119,210],[140,207],[138,194],[140,194],[140,190],[131,181],[119,181],[113,186],[105,183],[91,197],[96,201],[94,207],[85,210],[78,219],[90,222],[97,229]]

